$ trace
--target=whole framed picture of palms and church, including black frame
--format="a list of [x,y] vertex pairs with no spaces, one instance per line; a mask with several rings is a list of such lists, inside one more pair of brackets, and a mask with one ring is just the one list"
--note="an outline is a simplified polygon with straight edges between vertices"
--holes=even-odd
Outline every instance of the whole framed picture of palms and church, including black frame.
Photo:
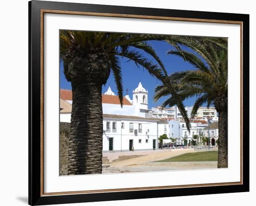
[[28,5],[30,205],[249,191],[249,15]]

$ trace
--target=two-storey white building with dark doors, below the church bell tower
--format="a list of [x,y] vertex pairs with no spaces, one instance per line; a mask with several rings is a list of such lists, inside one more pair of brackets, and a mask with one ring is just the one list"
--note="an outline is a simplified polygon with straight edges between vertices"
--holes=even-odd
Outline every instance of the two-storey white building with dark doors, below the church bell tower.
[[158,148],[157,119],[103,114],[103,151]]

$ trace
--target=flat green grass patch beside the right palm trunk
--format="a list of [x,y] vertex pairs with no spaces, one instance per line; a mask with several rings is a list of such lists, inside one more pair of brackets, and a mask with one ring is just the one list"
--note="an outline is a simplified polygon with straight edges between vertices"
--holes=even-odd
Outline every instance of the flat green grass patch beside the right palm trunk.
[[159,162],[168,161],[218,161],[218,151],[186,153]]

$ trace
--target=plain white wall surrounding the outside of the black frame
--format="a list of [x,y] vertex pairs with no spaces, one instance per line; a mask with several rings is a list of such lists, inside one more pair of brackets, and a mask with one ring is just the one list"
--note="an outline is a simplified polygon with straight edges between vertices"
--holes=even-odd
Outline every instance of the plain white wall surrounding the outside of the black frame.
[[[67,0],[55,0],[67,1]],[[229,13],[250,13],[250,86],[256,88],[256,61],[254,47],[256,46],[256,13],[255,3],[251,0],[223,1],[215,0],[214,2],[205,0],[183,0],[183,1],[148,1],[148,0],[68,0],[69,2],[93,3],[93,4],[109,4],[122,6],[141,6],[141,7],[158,7],[169,9],[184,9],[197,11],[215,11]],[[232,6],[231,6],[232,2]],[[0,32],[1,41],[1,68],[3,69],[3,77],[0,81],[1,97],[5,97],[8,101],[1,101],[3,117],[1,123],[1,149],[0,161],[2,165],[7,165],[8,169],[0,170],[0,193],[1,205],[4,206],[25,206],[27,205],[27,124],[28,124],[28,73],[27,73],[27,0],[3,1],[0,13],[1,26],[6,32]],[[19,38],[17,39],[17,31]],[[3,40],[4,39],[4,40]],[[14,47],[10,42],[15,42]],[[14,55],[13,55],[14,54]],[[15,56],[15,57],[14,57]],[[15,75],[14,75],[15,74]],[[18,122],[13,129],[13,108],[17,107],[19,100],[19,116],[15,115],[15,122]],[[255,90],[250,90],[250,127],[253,128],[256,120],[256,110],[253,106],[256,102]],[[256,195],[256,150],[253,144],[253,129],[250,130],[250,192],[249,193],[227,193],[227,194],[211,194],[211,195],[195,195],[181,196],[171,198],[154,198],[142,200],[119,200],[108,202],[94,202],[70,204],[70,206],[131,206],[131,205],[147,205],[166,206],[170,204],[179,204],[179,206],[216,206],[222,203],[224,205],[241,206],[245,202],[255,202]],[[15,143],[13,143],[15,142]],[[10,145],[12,145],[11,152]],[[15,164],[10,164],[15,162]]]

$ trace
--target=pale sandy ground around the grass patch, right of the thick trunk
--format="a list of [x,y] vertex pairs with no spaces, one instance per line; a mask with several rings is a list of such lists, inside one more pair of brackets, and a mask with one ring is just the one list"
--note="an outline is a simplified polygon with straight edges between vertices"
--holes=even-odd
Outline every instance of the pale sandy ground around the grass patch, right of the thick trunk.
[[[167,171],[180,169],[202,169],[202,168],[217,168],[216,161],[209,162],[155,162],[167,158],[175,157],[185,153],[201,152],[206,150],[194,149],[163,149],[155,151],[138,151],[127,153],[108,153],[110,163],[103,165],[103,173],[126,173],[126,172],[149,172],[149,171]],[[128,156],[128,159],[119,156]],[[143,155],[132,158],[131,155]],[[104,156],[104,155],[103,155]],[[117,157],[117,158],[116,158]],[[110,161],[109,160],[109,161]]]

